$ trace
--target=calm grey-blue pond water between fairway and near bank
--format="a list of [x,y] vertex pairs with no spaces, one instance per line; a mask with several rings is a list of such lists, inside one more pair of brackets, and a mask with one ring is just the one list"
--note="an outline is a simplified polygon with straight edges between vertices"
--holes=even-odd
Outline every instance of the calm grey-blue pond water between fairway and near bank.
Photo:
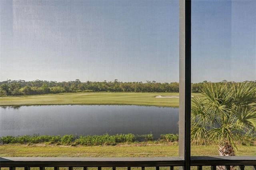
[[0,136],[178,133],[178,108],[134,105],[0,107]]

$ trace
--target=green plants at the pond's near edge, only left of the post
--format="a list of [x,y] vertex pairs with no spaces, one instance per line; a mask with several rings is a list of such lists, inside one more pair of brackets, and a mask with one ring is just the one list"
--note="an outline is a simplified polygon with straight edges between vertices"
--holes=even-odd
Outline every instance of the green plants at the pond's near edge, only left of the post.
[[[96,146],[96,145],[115,145],[124,142],[143,142],[153,141],[153,134],[116,134],[116,135],[64,135],[64,136],[48,136],[38,134],[24,135],[24,136],[3,136],[0,137],[0,144],[36,144],[36,143],[47,143],[47,144],[62,144],[62,145],[85,145],[85,146]],[[178,141],[178,134],[161,134],[157,140],[167,140],[169,142]]]

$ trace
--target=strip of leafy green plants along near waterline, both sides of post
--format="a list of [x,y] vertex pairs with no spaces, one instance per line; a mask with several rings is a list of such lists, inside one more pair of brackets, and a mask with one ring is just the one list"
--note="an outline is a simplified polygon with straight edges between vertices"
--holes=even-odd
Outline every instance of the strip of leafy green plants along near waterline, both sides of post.
[[[50,136],[50,135],[23,135],[23,136],[2,136],[0,137],[0,146],[6,144],[55,144],[64,146],[115,146],[117,144],[134,144],[134,143],[145,143],[151,142],[154,144],[166,144],[166,142],[178,143],[178,134],[160,134],[160,137],[155,138],[153,134],[115,134],[109,135],[108,133],[103,135],[77,135],[77,134],[66,134],[64,136]],[[240,140],[237,144],[244,146],[256,146],[256,136],[247,136],[244,140]],[[212,145],[210,141],[204,141],[201,144],[197,142],[191,142],[196,145]]]

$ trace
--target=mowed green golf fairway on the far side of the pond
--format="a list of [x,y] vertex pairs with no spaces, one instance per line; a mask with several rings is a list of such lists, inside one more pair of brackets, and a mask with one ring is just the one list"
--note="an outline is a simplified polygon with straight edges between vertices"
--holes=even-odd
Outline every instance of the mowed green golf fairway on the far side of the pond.
[[[179,98],[156,98],[178,96],[179,93],[68,93],[58,95],[35,95],[0,97],[0,106],[15,105],[145,105],[178,107]],[[193,94],[198,95],[198,94]]]

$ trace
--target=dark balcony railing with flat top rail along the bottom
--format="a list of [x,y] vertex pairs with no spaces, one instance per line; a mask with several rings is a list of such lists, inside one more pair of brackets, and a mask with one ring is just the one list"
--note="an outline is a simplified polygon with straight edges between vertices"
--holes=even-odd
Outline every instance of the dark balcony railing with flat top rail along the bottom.
[[[24,170],[29,170],[30,167],[39,167],[44,170],[45,167],[54,167],[58,170],[59,167],[68,167],[72,170],[74,167],[83,167],[87,170],[88,167],[170,167],[184,166],[185,161],[181,157],[147,157],[147,158],[82,158],[82,157],[2,157],[0,158],[0,167],[8,167],[10,170],[15,170],[16,167],[24,167]],[[212,170],[216,170],[216,166],[225,166],[230,169],[230,166],[238,166],[238,169],[244,170],[244,166],[252,166],[256,170],[256,156],[192,156],[190,166],[197,166],[198,170],[202,170],[203,166],[211,166]]]

